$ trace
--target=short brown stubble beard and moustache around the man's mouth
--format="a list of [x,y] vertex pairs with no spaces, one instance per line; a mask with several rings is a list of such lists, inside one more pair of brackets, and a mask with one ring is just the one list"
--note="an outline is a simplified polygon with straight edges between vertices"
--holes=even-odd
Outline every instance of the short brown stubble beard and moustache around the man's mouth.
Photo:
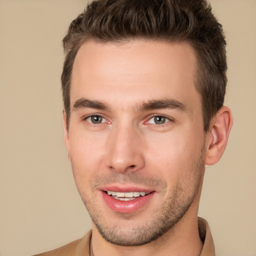
[[[157,183],[157,187],[161,188],[160,191],[162,191],[162,196],[168,193],[166,199],[161,202],[159,207],[157,207],[151,220],[140,225],[122,228],[122,226],[117,223],[116,225],[110,226],[107,224],[104,212],[95,207],[95,201],[93,199],[86,200],[86,196],[81,195],[92,222],[95,224],[101,236],[106,241],[121,246],[138,246],[149,243],[162,236],[182,218],[195,197],[200,193],[201,178],[204,170],[204,162],[202,160],[203,155],[204,148],[201,151],[200,157],[197,161],[194,161],[189,168],[188,172],[191,172],[192,174],[187,178],[191,178],[192,180],[186,180],[177,184],[172,193],[168,193],[168,191],[164,189],[167,184],[162,179],[146,179],[145,177],[138,176],[136,173],[132,172],[130,172],[131,174],[128,174],[128,176],[121,177],[119,174],[115,173],[115,180],[116,176],[118,176],[119,179],[132,180],[137,184],[140,184],[141,180],[147,180],[146,184],[149,185],[150,183]],[[186,177],[184,177],[184,179],[185,178]],[[92,183],[96,186],[101,180],[114,180],[114,178],[113,175],[104,178],[97,177]],[[123,219],[125,218],[129,221],[128,216],[123,217]]]

